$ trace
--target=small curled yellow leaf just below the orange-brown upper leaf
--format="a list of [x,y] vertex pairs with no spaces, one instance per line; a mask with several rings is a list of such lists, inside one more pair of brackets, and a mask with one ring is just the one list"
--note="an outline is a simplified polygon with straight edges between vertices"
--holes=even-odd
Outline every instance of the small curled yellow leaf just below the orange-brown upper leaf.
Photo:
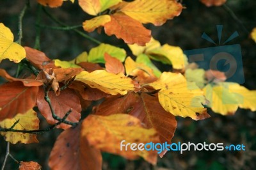
[[140,46],[137,44],[128,44],[128,46],[131,49],[132,54],[134,56],[139,56],[140,54],[143,54],[143,53],[148,54],[150,50],[154,50],[161,47],[161,44],[152,37],[150,39],[150,42],[146,43],[145,46]]

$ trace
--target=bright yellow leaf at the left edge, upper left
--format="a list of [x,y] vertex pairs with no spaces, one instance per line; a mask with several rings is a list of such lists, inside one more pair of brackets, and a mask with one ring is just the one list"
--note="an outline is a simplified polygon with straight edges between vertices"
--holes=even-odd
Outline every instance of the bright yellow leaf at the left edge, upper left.
[[3,59],[10,59],[19,63],[26,57],[26,51],[18,43],[13,42],[12,31],[3,23],[0,23],[0,62]]

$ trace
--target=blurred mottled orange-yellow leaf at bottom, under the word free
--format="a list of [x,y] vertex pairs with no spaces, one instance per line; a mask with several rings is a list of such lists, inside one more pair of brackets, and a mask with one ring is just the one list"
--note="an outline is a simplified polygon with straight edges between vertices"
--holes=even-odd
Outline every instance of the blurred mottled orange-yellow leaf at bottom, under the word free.
[[159,143],[159,137],[154,128],[143,128],[140,120],[129,114],[89,115],[82,123],[81,137],[88,139],[90,145],[101,151],[122,155],[129,159],[140,156],[151,164],[156,164],[156,151],[120,150],[122,140],[125,140],[125,143],[136,144]]

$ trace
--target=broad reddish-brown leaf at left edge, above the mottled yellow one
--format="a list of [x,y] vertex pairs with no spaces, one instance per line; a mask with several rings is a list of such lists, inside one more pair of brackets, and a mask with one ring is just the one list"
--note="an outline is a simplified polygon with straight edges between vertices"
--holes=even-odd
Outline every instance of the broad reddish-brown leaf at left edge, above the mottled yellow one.
[[7,82],[0,86],[0,121],[25,113],[36,104],[38,87],[26,87],[22,82]]

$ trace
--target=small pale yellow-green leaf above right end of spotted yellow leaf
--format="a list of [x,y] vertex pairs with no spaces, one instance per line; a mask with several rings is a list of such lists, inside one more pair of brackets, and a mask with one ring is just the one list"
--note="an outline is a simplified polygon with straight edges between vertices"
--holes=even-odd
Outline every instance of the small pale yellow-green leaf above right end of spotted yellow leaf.
[[206,83],[204,69],[200,68],[192,70],[191,68],[189,68],[185,72],[185,77],[188,82],[195,82],[198,88],[204,88],[204,85]]

